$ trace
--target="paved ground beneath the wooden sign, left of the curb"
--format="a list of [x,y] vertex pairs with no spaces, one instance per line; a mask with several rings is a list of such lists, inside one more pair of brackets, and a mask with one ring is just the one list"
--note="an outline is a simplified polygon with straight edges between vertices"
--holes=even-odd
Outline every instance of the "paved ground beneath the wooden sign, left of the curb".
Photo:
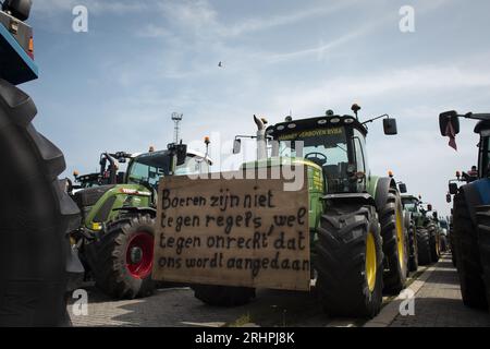
[[355,326],[353,320],[332,320],[318,308],[313,293],[259,290],[257,299],[237,308],[209,306],[188,288],[161,289],[140,300],[110,301],[89,287],[88,315],[74,316],[74,326]]

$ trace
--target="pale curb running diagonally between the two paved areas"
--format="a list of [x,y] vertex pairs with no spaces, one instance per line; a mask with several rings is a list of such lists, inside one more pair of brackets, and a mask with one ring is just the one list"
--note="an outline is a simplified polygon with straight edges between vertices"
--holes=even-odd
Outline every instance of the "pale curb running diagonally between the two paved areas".
[[[429,277],[432,275],[433,270],[436,270],[436,265],[428,267],[419,278],[415,279],[412,285],[404,289],[400,294],[403,294],[405,290],[411,290],[414,292],[416,298],[417,292],[422,288]],[[394,300],[390,301],[387,305],[383,306],[381,312],[372,320],[367,322],[363,327],[388,327],[391,323],[400,315],[400,304],[404,301],[405,298],[401,296],[396,297]]]

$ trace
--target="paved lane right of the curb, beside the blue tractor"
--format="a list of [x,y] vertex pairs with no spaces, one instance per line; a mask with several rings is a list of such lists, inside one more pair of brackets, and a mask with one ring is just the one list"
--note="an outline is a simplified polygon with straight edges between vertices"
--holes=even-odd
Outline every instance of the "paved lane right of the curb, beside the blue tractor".
[[393,327],[490,327],[490,314],[463,305],[460,280],[444,255],[415,294],[415,316],[397,315]]

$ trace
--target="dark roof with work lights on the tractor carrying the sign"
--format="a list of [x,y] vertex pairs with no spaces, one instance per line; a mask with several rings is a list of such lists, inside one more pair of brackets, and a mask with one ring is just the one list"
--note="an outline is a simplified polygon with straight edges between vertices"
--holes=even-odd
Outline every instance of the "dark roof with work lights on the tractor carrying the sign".
[[353,116],[323,116],[318,118],[291,120],[277,123],[267,128],[267,134],[277,136],[283,133],[295,131],[307,131],[316,129],[327,129],[335,127],[347,127],[357,129],[364,135],[367,135],[367,129]]

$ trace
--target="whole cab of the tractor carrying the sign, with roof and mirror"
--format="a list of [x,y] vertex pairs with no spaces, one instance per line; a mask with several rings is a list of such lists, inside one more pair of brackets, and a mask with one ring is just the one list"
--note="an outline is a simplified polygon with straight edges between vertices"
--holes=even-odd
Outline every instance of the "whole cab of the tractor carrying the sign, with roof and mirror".
[[272,158],[301,158],[308,166],[321,169],[326,194],[365,192],[370,178],[366,152],[367,123],[384,120],[384,133],[396,134],[396,122],[387,115],[362,123],[360,109],[354,105],[353,116],[339,116],[328,110],[326,116],[303,120],[287,117],[284,122],[266,130],[272,140]]

